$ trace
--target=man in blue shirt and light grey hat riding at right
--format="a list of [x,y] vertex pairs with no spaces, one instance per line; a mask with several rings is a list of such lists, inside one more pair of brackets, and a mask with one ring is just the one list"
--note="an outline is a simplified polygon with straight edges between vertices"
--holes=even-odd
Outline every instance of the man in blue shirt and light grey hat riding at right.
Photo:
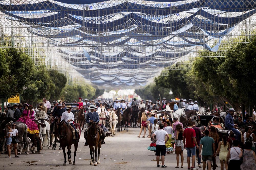
[[235,110],[233,108],[230,108],[228,110],[228,114],[225,119],[225,127],[228,130],[232,130],[234,132],[234,134],[236,134],[236,139],[238,141],[241,141],[241,134],[240,134],[239,130],[237,130],[238,125],[234,124],[234,120],[233,120],[234,112],[235,112]]

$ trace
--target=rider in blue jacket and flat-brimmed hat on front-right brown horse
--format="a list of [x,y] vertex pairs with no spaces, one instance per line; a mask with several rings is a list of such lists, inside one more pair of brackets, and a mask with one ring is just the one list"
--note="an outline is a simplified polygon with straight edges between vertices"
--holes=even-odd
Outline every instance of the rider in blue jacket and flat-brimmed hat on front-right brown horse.
[[[89,132],[90,128],[91,128],[91,125],[92,123],[96,123],[97,124],[97,128],[99,130],[99,132],[101,132],[101,144],[105,144],[105,141],[104,141],[104,138],[106,136],[109,136],[111,133],[104,133],[103,131],[103,128],[101,128],[98,123],[100,121],[100,117],[99,117],[99,114],[97,112],[95,112],[95,109],[97,109],[97,107],[94,106],[94,104],[91,104],[89,109],[91,110],[91,112],[87,113],[87,116],[86,116],[86,123],[89,123],[89,127],[86,129],[86,132],[84,134],[84,137],[85,137],[85,144],[84,146],[88,146],[88,143],[87,143],[87,133]],[[105,127],[106,128],[106,127]]]

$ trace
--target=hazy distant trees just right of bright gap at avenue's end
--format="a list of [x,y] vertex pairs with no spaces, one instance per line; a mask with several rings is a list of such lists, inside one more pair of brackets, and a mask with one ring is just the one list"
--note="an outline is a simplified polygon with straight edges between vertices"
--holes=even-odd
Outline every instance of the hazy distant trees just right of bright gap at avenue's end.
[[174,96],[169,94],[170,89],[165,87],[159,87],[155,84],[148,85],[143,89],[135,89],[135,93],[139,95],[142,99],[155,101],[159,98],[159,94],[161,98],[166,97],[167,100],[172,99]]

